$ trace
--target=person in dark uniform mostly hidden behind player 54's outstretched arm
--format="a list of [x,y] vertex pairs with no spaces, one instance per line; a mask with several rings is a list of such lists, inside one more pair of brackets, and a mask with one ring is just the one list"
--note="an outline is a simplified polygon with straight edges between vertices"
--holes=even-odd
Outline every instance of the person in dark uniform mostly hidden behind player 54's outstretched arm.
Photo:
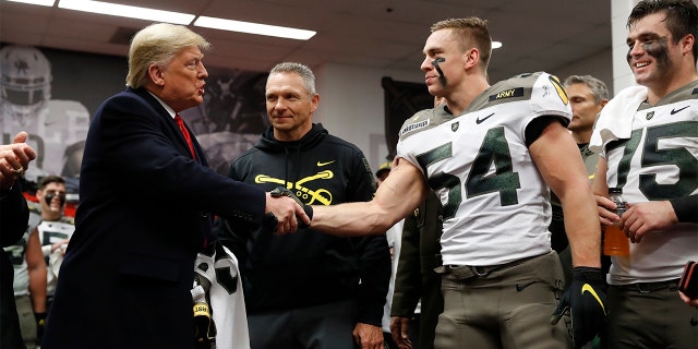
[[[434,98],[434,107],[445,103]],[[430,111],[423,111],[430,112]],[[434,348],[434,330],[444,311],[441,296],[442,205],[434,192],[405,218],[390,309],[390,332],[400,347]]]

